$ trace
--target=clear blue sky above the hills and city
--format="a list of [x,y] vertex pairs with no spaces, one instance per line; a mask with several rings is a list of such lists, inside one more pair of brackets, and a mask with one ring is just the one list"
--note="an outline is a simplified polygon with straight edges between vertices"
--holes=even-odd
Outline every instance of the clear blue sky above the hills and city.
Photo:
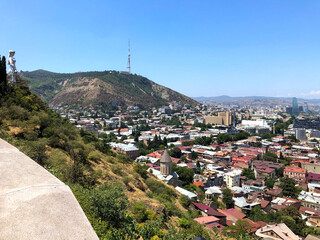
[[319,0],[0,0],[17,69],[126,70],[188,96],[320,98]]

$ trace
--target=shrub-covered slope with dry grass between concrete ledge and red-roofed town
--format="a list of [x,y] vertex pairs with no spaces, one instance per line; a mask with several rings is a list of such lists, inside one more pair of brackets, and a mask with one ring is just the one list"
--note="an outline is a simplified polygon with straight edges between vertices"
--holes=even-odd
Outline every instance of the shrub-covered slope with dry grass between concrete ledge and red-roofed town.
[[199,212],[174,188],[77,130],[22,84],[2,89],[0,119],[0,137],[71,187],[101,239],[215,235],[192,220]]

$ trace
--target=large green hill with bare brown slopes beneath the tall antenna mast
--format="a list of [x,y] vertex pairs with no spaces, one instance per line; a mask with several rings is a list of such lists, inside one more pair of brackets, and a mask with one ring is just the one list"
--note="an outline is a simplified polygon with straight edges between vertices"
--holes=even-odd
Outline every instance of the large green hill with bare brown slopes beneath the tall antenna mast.
[[52,105],[94,104],[161,106],[176,101],[198,102],[143,76],[118,71],[54,73],[45,70],[20,73],[31,91]]

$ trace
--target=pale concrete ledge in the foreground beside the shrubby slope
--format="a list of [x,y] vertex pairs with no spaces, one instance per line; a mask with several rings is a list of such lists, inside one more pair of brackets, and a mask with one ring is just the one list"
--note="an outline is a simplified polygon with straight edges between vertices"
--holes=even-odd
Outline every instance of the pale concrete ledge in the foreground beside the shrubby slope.
[[2,139],[0,239],[98,239],[70,188]]

